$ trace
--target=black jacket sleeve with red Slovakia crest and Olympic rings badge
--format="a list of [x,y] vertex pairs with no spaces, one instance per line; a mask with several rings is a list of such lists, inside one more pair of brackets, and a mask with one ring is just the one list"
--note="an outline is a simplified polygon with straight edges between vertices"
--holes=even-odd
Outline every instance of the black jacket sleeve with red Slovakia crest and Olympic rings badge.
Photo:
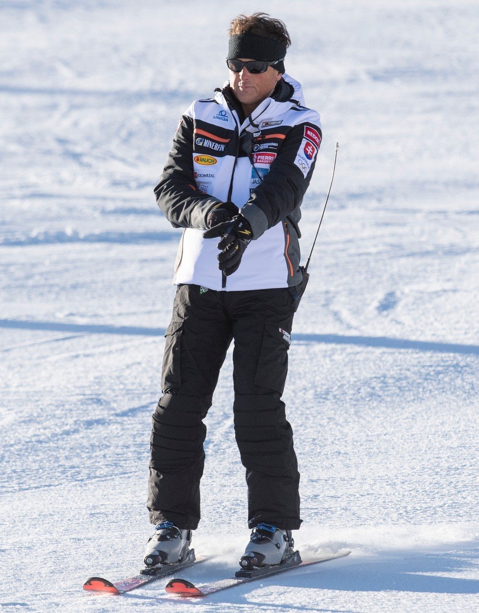
[[321,143],[318,120],[294,126],[285,137],[270,172],[252,191],[240,213],[251,224],[253,238],[285,219],[303,201]]

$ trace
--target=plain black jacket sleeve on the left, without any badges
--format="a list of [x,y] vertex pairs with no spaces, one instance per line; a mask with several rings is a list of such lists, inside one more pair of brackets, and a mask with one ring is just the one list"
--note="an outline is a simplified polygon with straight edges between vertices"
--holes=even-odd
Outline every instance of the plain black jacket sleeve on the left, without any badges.
[[179,122],[154,193],[157,205],[176,228],[207,228],[206,216],[221,202],[197,188],[193,170],[193,119],[187,113]]

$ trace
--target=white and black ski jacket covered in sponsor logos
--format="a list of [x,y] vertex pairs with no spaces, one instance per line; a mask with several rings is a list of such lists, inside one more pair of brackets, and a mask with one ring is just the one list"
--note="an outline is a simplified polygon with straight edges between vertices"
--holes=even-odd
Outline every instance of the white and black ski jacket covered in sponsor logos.
[[[226,83],[179,121],[154,189],[168,221],[184,228],[173,283],[238,291],[301,281],[300,205],[322,138],[320,117],[304,106],[300,83],[287,74],[243,117]],[[218,240],[203,238],[206,216],[227,200],[249,221],[253,239],[228,277],[218,268]]]

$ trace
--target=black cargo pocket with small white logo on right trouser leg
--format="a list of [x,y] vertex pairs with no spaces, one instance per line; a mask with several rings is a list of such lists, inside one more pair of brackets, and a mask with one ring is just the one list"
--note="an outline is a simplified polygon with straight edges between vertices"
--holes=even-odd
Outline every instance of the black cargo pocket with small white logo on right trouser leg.
[[279,394],[283,393],[288,373],[288,349],[291,335],[281,326],[265,324],[258,367],[254,379],[255,386],[267,387]]

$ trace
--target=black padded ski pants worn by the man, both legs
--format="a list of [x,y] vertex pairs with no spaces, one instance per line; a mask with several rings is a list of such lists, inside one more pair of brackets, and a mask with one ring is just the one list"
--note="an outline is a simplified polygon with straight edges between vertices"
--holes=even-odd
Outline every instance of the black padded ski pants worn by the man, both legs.
[[162,391],[153,414],[148,485],[152,524],[194,530],[200,520],[203,419],[234,338],[236,442],[246,468],[248,525],[300,527],[300,474],[281,401],[294,302],[289,289],[216,292],[180,285],[166,331]]

